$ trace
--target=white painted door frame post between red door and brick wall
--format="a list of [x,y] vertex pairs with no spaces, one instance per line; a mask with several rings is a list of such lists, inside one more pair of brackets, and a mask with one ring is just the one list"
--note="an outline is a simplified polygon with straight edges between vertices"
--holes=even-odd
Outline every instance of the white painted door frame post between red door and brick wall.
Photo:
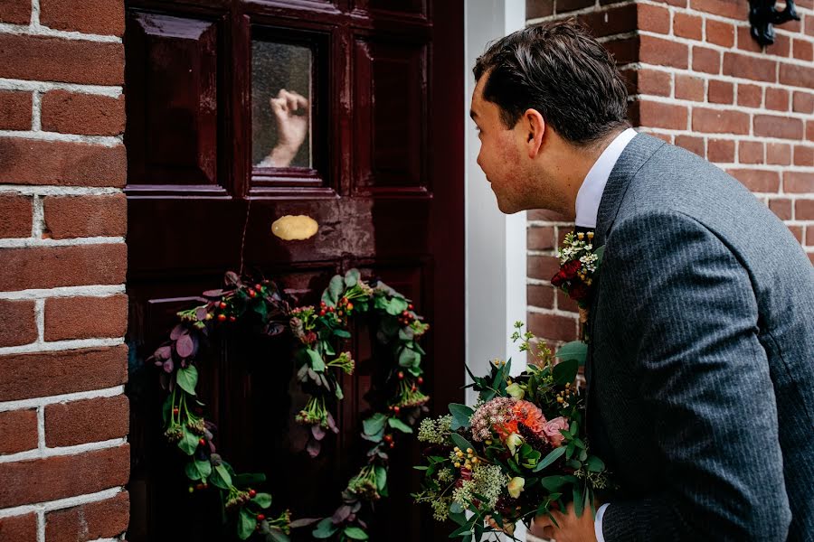
[[[477,164],[480,142],[469,118],[469,103],[476,59],[489,42],[525,26],[525,0],[466,0],[464,10],[466,361],[473,373],[482,375],[489,360],[512,358],[516,374],[525,369],[525,352],[518,351],[509,336],[516,321],[526,321],[525,211],[505,215],[497,209],[495,194]],[[468,389],[467,404],[473,405],[476,398]],[[518,528],[515,536],[525,539],[525,528]]]

